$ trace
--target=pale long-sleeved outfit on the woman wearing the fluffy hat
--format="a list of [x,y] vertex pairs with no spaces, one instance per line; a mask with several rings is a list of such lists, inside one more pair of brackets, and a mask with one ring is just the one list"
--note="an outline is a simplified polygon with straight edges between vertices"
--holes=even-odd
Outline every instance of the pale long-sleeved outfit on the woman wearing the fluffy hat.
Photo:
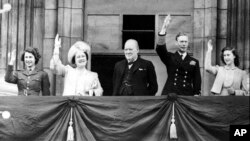
[[63,96],[101,96],[103,89],[98,74],[87,69],[78,70],[70,65],[64,66],[58,59],[50,62],[52,70],[64,76]]

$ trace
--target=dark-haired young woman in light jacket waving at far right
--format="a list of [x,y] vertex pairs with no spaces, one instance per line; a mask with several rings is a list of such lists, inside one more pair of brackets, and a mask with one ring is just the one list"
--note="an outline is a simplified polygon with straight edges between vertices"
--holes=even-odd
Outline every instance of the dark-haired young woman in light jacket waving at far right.
[[211,92],[215,95],[244,95],[242,80],[245,72],[238,68],[239,56],[234,48],[225,47],[221,51],[221,60],[224,66],[212,66],[212,40],[208,41],[208,50],[205,58],[205,70],[216,75]]

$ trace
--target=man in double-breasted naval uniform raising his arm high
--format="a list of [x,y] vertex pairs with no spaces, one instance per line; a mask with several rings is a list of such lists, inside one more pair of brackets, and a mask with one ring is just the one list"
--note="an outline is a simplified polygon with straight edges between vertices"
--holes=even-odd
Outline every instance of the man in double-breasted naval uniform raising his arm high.
[[159,41],[156,46],[156,52],[166,65],[168,73],[162,95],[169,93],[186,96],[200,95],[201,74],[199,61],[187,54],[189,43],[187,34],[179,33],[176,36],[178,50],[175,53],[167,51],[165,35],[170,21],[171,17],[168,15],[159,32]]

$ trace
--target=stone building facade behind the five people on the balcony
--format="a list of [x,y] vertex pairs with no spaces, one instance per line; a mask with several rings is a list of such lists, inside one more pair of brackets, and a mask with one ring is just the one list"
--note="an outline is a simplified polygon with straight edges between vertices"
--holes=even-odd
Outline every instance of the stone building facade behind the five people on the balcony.
[[154,48],[167,14],[172,15],[166,37],[168,49],[176,50],[174,38],[178,32],[188,33],[189,53],[200,62],[202,95],[210,94],[214,79],[204,71],[208,39],[215,41],[213,64],[221,64],[221,48],[233,46],[240,53],[240,67],[249,68],[248,0],[0,0],[0,6],[4,3],[10,3],[12,10],[0,19],[1,74],[11,50],[18,50],[18,69],[23,67],[20,56],[25,47],[37,47],[43,54],[38,65],[49,73],[51,92],[55,95],[61,95],[63,90],[63,78],[49,70],[57,33],[62,38],[64,64],[74,42],[84,40],[91,45],[89,68],[99,74],[104,95],[112,93],[113,67],[123,59],[124,42],[135,38],[139,41],[141,57],[151,60],[155,66],[157,95],[160,95],[167,74]]

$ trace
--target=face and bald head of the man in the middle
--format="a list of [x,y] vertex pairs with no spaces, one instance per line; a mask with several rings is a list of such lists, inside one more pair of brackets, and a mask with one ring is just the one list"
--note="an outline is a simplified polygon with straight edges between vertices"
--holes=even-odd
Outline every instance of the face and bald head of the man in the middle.
[[139,49],[136,41],[129,40],[125,43],[124,54],[128,61],[134,61],[138,57]]

